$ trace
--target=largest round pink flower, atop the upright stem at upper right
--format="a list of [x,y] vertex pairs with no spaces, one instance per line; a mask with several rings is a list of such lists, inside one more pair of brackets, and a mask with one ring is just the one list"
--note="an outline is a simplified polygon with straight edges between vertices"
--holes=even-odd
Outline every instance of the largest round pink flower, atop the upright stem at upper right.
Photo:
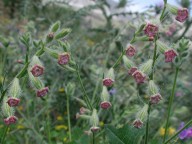
[[158,33],[158,27],[149,23],[145,27],[144,32],[147,36],[154,37]]

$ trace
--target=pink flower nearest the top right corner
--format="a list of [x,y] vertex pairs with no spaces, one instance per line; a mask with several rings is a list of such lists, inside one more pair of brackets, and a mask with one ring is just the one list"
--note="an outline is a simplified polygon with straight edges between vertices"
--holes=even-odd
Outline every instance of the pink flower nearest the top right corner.
[[189,12],[188,9],[183,8],[183,9],[178,9],[177,11],[177,16],[176,16],[176,20],[179,22],[184,22],[189,16]]

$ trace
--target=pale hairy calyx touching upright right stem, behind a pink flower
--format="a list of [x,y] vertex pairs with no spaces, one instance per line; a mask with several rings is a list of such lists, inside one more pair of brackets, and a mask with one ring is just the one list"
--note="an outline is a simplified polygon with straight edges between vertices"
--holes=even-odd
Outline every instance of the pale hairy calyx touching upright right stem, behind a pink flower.
[[141,66],[139,67],[139,70],[149,75],[152,72],[152,64],[153,64],[153,60],[149,59],[145,63],[141,64]]

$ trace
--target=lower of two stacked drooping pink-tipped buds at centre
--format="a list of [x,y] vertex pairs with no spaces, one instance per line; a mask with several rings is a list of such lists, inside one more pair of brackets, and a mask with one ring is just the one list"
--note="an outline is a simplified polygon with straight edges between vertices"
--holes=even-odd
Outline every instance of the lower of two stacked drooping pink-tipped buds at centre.
[[101,104],[100,104],[100,107],[102,109],[108,109],[111,107],[111,103],[109,102],[109,92],[107,90],[107,87],[103,86],[103,90],[102,90],[102,93],[101,93]]

